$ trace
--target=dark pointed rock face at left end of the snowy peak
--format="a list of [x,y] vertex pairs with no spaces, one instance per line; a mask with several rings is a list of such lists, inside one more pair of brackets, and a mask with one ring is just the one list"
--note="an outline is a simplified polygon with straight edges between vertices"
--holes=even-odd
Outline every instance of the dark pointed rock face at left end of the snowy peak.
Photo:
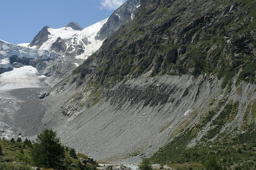
[[34,39],[30,42],[28,46],[36,46],[36,48],[39,49],[41,45],[49,39],[48,35],[50,35],[50,33],[48,32],[48,28],[50,27],[43,27],[43,29],[39,31],[39,33],[34,37]]

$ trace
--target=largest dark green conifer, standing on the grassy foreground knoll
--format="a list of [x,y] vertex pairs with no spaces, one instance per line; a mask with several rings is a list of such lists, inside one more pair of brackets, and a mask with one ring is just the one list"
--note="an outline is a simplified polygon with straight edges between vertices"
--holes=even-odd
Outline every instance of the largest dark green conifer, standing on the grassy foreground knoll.
[[31,151],[34,165],[54,168],[63,163],[65,148],[56,136],[57,132],[52,129],[45,129],[41,134],[37,135],[37,142],[34,143]]

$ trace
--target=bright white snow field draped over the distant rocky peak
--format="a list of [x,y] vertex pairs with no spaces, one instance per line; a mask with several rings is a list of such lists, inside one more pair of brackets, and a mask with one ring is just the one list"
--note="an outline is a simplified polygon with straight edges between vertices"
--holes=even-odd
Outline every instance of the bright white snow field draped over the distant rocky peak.
[[[108,18],[104,19],[103,21],[97,22],[92,26],[86,27],[81,31],[74,30],[71,27],[63,27],[58,29],[48,28],[48,32],[50,33],[50,35],[48,35],[49,39],[46,42],[43,42],[39,49],[50,50],[53,43],[58,39],[58,37],[60,37],[61,39],[72,38],[71,42],[66,42],[67,49],[70,47],[70,45],[73,50],[75,50],[73,45],[82,45],[85,52],[81,55],[76,56],[76,58],[87,59],[88,56],[91,56],[92,53],[96,52],[101,47],[103,40],[96,40],[95,36],[100,31],[102,26],[107,22],[107,20]],[[84,38],[87,38],[90,43],[85,44],[84,41],[82,41],[82,39]],[[32,46],[31,48],[36,49],[37,46]]]

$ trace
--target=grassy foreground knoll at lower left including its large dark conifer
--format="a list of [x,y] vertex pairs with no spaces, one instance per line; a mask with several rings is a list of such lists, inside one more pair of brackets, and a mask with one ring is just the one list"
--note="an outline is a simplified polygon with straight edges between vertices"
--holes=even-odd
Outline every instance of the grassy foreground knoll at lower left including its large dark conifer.
[[95,170],[97,162],[84,154],[76,154],[73,148],[64,147],[57,133],[46,129],[37,136],[36,142],[21,138],[0,140],[1,170]]

